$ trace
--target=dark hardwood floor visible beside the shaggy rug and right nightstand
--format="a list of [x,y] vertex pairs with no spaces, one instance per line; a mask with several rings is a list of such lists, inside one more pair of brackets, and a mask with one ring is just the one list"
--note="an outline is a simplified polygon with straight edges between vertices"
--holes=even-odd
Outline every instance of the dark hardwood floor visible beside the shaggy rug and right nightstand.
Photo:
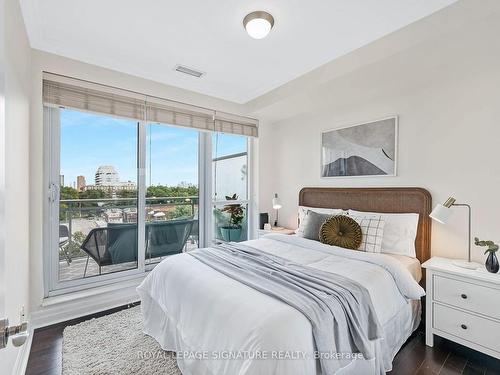
[[[62,369],[62,334],[64,327],[84,320],[112,314],[127,306],[91,316],[37,329],[28,360],[26,375],[59,375]],[[390,375],[479,374],[499,375],[500,361],[451,341],[436,337],[434,347],[425,346],[423,330],[417,330],[401,348]]]

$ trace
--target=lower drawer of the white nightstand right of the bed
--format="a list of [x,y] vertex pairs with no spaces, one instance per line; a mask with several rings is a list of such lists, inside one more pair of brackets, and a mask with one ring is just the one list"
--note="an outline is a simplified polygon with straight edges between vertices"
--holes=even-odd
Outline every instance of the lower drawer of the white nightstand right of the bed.
[[434,303],[434,328],[500,352],[500,323]]

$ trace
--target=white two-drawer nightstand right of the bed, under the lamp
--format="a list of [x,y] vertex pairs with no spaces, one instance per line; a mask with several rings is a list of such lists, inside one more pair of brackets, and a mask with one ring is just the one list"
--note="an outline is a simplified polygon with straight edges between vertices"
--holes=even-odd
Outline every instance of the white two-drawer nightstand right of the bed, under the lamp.
[[426,274],[425,343],[434,335],[500,359],[500,274],[433,257]]

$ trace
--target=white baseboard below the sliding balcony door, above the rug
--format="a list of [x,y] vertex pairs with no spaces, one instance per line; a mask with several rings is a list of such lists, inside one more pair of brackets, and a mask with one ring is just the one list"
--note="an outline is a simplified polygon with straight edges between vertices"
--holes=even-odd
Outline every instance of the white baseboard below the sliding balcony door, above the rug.
[[46,303],[39,310],[31,313],[31,326],[34,329],[46,327],[137,302],[139,295],[136,287],[137,285],[129,284],[123,288],[90,296],[84,295],[77,298],[68,296],[66,300],[58,297],[57,302]]

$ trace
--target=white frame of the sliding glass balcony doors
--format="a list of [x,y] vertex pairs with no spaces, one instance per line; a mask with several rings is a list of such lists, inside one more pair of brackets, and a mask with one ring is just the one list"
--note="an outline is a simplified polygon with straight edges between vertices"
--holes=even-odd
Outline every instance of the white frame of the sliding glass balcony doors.
[[[44,133],[44,223],[43,223],[43,282],[44,297],[52,297],[85,289],[97,288],[113,283],[145,277],[154,268],[146,265],[145,259],[145,207],[146,207],[146,125],[150,121],[137,121],[137,225],[138,225],[138,258],[137,268],[108,273],[89,278],[59,281],[59,175],[60,175],[60,128],[61,109],[64,107],[43,106]],[[84,112],[81,110],[77,110]],[[108,114],[94,113],[100,116],[114,117]],[[176,126],[169,125],[167,126]],[[223,201],[216,202],[212,192],[212,135],[211,131],[198,129],[198,199],[199,199],[199,247],[213,244],[214,206],[222,206]],[[241,203],[247,205],[247,238],[254,238],[254,195],[253,195],[253,137],[247,136],[247,199]],[[240,201],[238,201],[240,202]],[[48,220],[47,220],[48,219]]]

